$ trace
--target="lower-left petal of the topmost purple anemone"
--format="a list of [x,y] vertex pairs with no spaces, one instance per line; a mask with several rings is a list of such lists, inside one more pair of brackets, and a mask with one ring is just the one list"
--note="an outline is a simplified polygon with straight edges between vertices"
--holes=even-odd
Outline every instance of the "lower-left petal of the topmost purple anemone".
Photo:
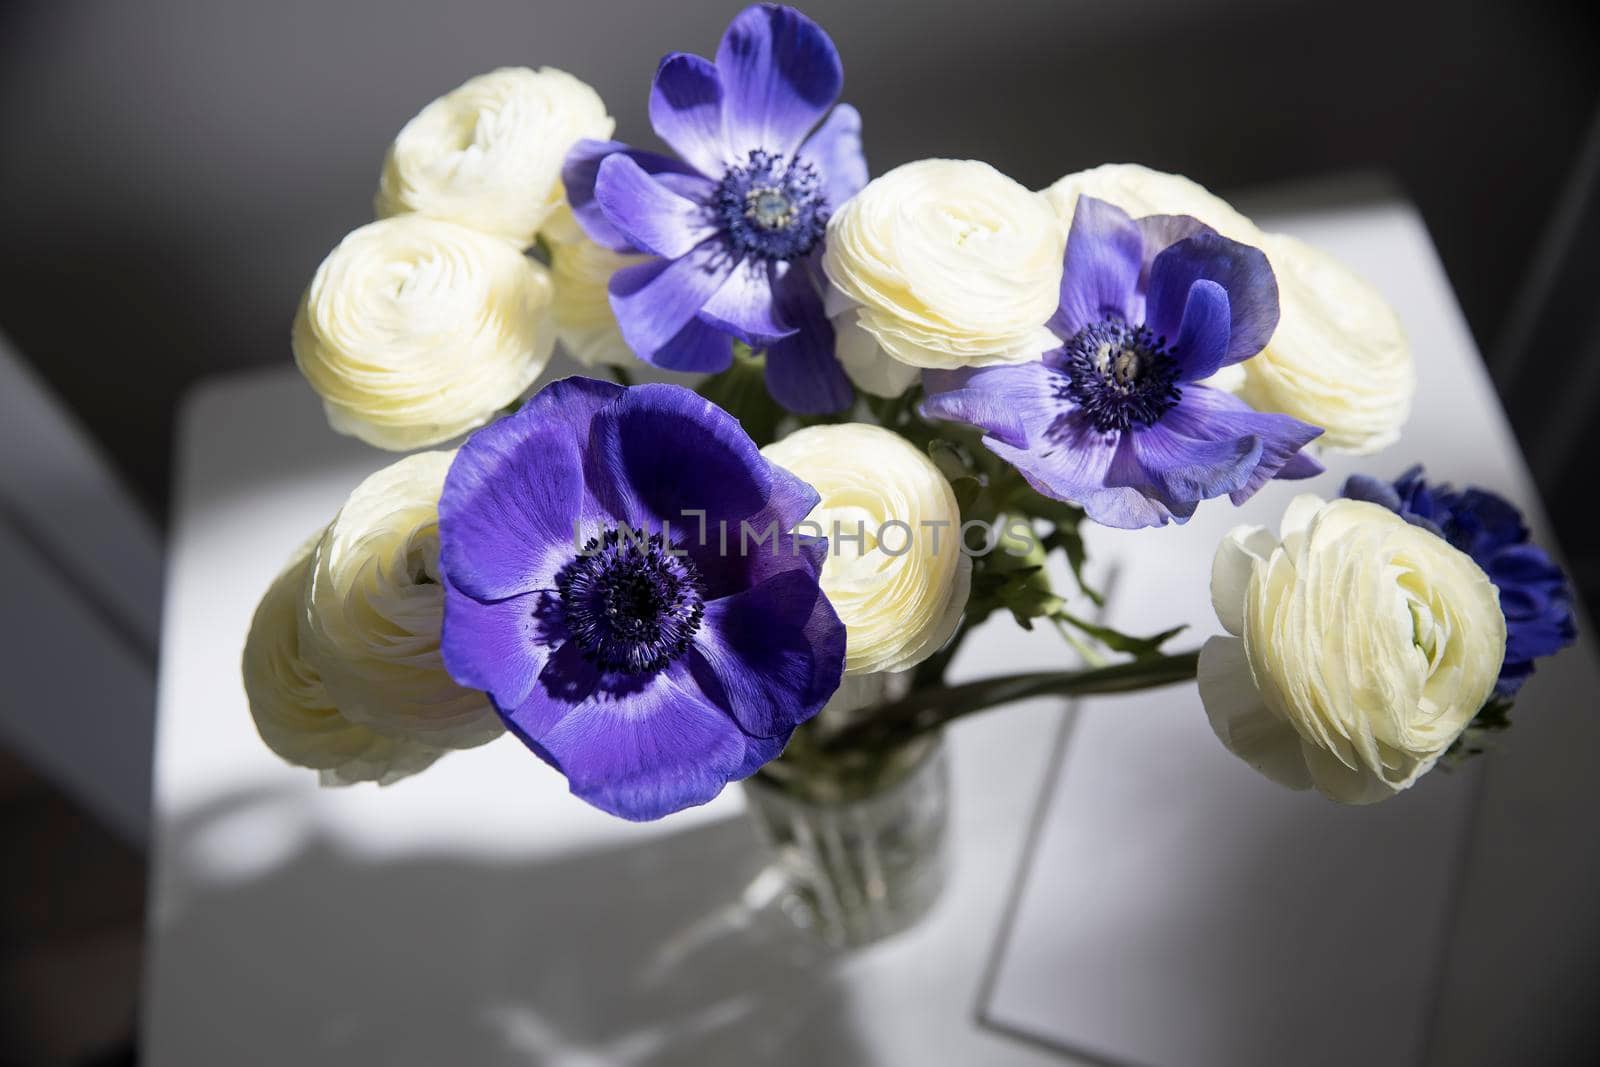
[[611,275],[611,310],[627,347],[650,362],[706,306],[739,266],[718,238],[678,259],[624,267]]

